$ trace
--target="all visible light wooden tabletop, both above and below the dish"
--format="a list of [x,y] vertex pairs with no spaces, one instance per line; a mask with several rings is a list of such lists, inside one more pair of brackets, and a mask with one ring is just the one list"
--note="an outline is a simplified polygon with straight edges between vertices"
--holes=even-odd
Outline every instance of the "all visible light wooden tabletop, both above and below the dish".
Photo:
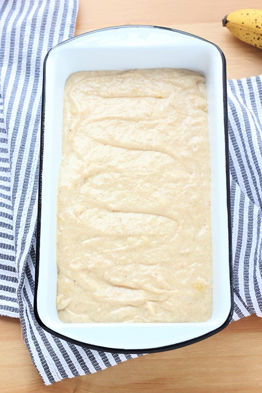
[[[79,0],[76,34],[114,25],[157,25],[204,37],[224,51],[228,79],[262,74],[262,51],[237,40],[222,18],[261,0]],[[0,317],[0,393],[262,392],[262,319],[254,315],[193,345],[150,354],[45,386],[18,319]]]

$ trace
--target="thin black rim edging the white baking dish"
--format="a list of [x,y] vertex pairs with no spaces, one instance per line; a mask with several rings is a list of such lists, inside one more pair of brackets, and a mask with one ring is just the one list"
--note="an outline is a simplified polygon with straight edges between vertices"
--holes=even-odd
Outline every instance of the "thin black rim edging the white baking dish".
[[[94,344],[89,344],[86,342],[78,341],[76,339],[73,339],[71,337],[64,336],[53,329],[49,328],[47,325],[45,325],[38,313],[37,309],[37,289],[38,289],[38,279],[39,279],[39,253],[40,253],[40,229],[41,229],[41,205],[42,205],[42,171],[43,171],[43,151],[44,151],[44,123],[45,123],[45,82],[46,82],[46,61],[47,58],[50,54],[51,51],[53,51],[55,48],[58,46],[66,44],[68,41],[73,41],[78,39],[79,37],[83,37],[86,35],[90,35],[93,33],[97,33],[99,31],[105,31],[105,30],[112,30],[112,29],[120,29],[120,28],[152,28],[152,29],[164,29],[164,30],[170,30],[174,31],[180,34],[188,35],[190,37],[205,41],[206,43],[213,45],[217,51],[219,52],[222,60],[222,73],[223,73],[223,103],[224,103],[224,131],[225,131],[225,169],[226,169],[226,186],[227,186],[227,210],[228,210],[228,241],[229,241],[229,274],[230,274],[230,290],[231,290],[231,308],[228,317],[226,318],[225,322],[218,328],[207,332],[206,334],[198,337],[194,337],[192,339],[178,342],[175,344],[170,344],[167,346],[161,346],[161,347],[155,347],[155,348],[143,348],[143,349],[124,349],[124,348],[108,348],[108,347],[103,347],[103,346],[98,346]],[[42,89],[42,112],[41,112],[41,135],[40,135],[40,162],[39,162],[39,187],[38,187],[38,215],[37,215],[37,225],[36,225],[36,263],[35,263],[35,285],[34,285],[34,304],[33,304],[33,310],[34,310],[34,315],[36,318],[37,323],[39,326],[41,326],[45,331],[48,333],[61,338],[65,341],[71,342],[73,344],[94,349],[94,350],[100,350],[104,352],[112,352],[112,353],[125,353],[125,354],[143,354],[143,353],[154,353],[154,352],[164,352],[164,351],[169,351],[172,349],[176,348],[181,348],[183,346],[189,345],[196,343],[198,341],[201,341],[207,337],[213,336],[214,334],[220,332],[223,330],[231,321],[232,319],[232,314],[233,314],[233,273],[232,273],[232,234],[231,234],[231,214],[230,214],[230,179],[229,179],[229,144],[228,144],[228,107],[227,107],[227,78],[226,78],[226,59],[224,56],[224,53],[222,50],[213,42],[210,42],[202,37],[199,37],[195,34],[188,33],[186,31],[178,30],[175,28],[167,28],[167,27],[162,27],[162,26],[151,26],[151,25],[123,25],[123,26],[113,26],[113,27],[108,27],[108,28],[100,28],[92,31],[88,31],[86,33],[80,34],[78,36],[69,38],[68,40],[65,40],[58,45],[54,46],[49,50],[47,53],[45,59],[44,59],[44,64],[43,64],[43,89]]]

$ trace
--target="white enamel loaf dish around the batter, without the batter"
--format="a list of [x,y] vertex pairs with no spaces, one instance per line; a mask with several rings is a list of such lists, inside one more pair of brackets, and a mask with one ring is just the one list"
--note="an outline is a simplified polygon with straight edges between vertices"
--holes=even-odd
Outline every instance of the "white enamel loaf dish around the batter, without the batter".
[[[78,323],[56,309],[56,200],[61,159],[63,90],[76,71],[173,67],[206,78],[211,151],[213,312],[202,323]],[[170,28],[120,26],[91,31],[54,47],[44,63],[35,315],[58,337],[117,352],[172,349],[224,328],[232,314],[227,94],[225,58],[214,44]]]

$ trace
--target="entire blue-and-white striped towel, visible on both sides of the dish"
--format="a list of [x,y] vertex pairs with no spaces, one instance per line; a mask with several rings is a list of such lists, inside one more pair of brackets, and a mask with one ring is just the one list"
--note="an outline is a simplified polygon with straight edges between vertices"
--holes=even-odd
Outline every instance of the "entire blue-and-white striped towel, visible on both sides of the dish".
[[[42,65],[51,47],[73,36],[77,10],[77,0],[0,0],[0,314],[20,318],[47,385],[137,356],[67,343],[33,315]],[[261,84],[260,76],[228,82],[233,320],[262,316]]]

